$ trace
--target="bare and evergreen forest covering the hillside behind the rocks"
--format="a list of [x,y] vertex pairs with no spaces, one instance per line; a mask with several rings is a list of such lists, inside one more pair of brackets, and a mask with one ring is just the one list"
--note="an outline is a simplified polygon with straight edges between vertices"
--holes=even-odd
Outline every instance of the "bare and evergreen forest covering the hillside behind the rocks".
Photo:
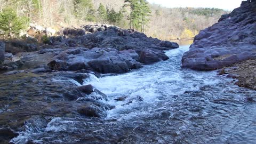
[[214,8],[166,8],[146,0],[0,0],[0,34],[19,37],[29,23],[60,30],[91,23],[131,28],[160,39],[193,38],[222,14]]

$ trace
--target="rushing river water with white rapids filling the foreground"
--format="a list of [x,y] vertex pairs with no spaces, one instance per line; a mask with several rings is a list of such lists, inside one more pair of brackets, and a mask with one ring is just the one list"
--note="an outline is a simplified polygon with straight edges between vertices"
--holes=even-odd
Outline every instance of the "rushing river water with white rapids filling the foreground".
[[[0,77],[0,126],[19,133],[13,143],[256,143],[255,91],[216,71],[181,68],[189,46],[130,73],[19,74]],[[75,80],[74,80],[75,79]],[[81,103],[60,94],[92,84],[115,106],[105,118],[77,114]],[[115,99],[123,97],[124,101]]]

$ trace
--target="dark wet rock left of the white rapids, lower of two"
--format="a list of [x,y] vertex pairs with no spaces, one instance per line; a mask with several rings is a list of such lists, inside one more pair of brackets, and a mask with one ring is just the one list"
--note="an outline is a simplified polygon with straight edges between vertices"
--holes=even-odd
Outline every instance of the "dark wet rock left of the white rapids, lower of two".
[[92,102],[86,102],[84,105],[77,109],[79,114],[88,117],[106,117],[107,113],[100,106],[95,105]]

